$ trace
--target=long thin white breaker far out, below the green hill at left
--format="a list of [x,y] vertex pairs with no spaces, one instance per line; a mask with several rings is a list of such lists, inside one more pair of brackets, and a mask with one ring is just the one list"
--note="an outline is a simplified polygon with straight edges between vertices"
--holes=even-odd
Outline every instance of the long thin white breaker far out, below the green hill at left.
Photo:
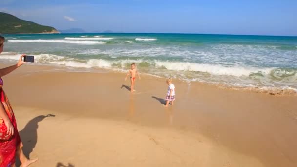
[[67,41],[67,40],[8,40],[8,42],[52,42],[52,43],[73,43],[73,44],[105,44],[101,41]]

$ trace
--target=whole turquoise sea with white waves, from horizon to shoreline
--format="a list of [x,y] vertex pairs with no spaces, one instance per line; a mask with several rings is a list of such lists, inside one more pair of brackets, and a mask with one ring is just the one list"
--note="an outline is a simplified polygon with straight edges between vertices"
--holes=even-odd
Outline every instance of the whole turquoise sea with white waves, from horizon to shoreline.
[[297,37],[202,34],[5,35],[3,61],[106,68],[233,87],[297,90]]

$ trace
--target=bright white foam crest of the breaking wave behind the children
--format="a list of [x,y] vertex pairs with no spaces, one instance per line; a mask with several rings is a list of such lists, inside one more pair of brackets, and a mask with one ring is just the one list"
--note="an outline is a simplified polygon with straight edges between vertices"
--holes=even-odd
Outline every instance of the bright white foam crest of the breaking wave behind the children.
[[[251,73],[261,73],[264,75],[269,74],[274,68],[253,68],[253,67],[240,67],[240,66],[232,66],[226,67],[222,65],[214,65],[214,64],[198,64],[198,63],[182,63],[182,62],[164,62],[164,61],[150,61],[150,60],[131,60],[131,59],[124,59],[124,60],[116,60],[116,61],[107,61],[102,59],[90,59],[85,63],[76,62],[76,61],[60,61],[60,62],[51,62],[57,64],[64,64],[66,66],[71,67],[112,67],[114,64],[117,67],[125,68],[127,64],[130,63],[142,63],[147,62],[155,67],[165,67],[167,70],[170,71],[193,71],[193,72],[207,72],[212,75],[226,75],[226,76],[249,76]],[[105,65],[102,65],[105,64]]]

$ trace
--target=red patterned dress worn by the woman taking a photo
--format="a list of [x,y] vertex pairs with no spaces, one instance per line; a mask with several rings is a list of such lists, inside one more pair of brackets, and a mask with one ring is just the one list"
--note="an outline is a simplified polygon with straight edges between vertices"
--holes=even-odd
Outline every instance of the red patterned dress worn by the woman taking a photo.
[[17,129],[17,122],[9,100],[3,89],[3,80],[0,78],[0,99],[3,108],[14,127],[14,135],[7,136],[7,128],[2,118],[0,118],[0,167],[12,167],[16,160],[16,151],[21,146],[21,138]]

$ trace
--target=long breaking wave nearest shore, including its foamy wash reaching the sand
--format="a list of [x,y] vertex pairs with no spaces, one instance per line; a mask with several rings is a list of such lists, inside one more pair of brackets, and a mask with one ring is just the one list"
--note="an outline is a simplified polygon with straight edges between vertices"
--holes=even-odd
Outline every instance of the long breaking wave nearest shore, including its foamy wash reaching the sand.
[[[94,50],[99,52],[100,50]],[[34,54],[33,54],[34,55]],[[2,52],[1,60],[17,61],[21,54]],[[79,59],[53,54],[37,54],[35,64],[62,65],[74,68],[105,68],[126,71],[131,63],[143,73],[159,77],[175,77],[187,82],[205,82],[232,88],[255,89],[259,92],[297,92],[297,68],[256,68],[220,64],[170,62],[148,59]],[[275,93],[278,92],[278,93]]]

